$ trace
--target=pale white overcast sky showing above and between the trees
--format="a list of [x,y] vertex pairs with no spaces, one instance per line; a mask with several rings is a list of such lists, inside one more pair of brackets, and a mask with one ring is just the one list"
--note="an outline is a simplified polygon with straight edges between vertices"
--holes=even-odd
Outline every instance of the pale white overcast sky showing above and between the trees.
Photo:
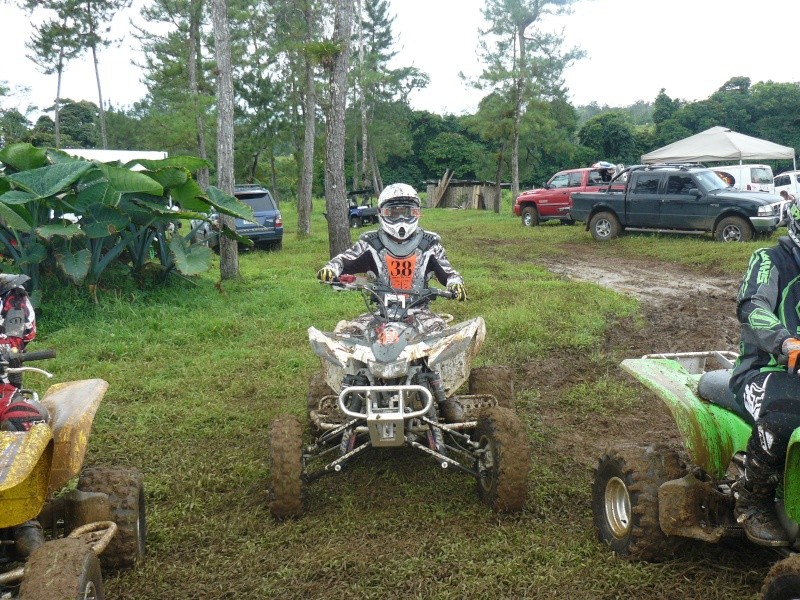
[[[411,96],[412,106],[440,114],[474,112],[481,94],[466,87],[458,73],[480,73],[476,50],[484,0],[390,2],[395,65],[414,65],[431,78],[428,88]],[[117,16],[117,35],[130,18],[140,21],[136,12]],[[579,0],[571,16],[548,25],[563,27],[566,44],[587,54],[565,73],[572,103],[625,106],[652,102],[662,87],[672,98],[701,100],[735,76],[753,83],[800,81],[798,22],[796,0]],[[4,3],[0,23],[0,81],[31,88],[29,95],[4,100],[4,105],[24,109],[52,103],[55,77],[41,75],[25,57],[29,19]],[[776,28],[782,23],[787,24],[785,33]],[[135,64],[140,60],[136,42],[128,40],[130,45],[100,54],[103,96],[116,106],[130,105],[145,93]],[[97,102],[88,57],[65,71],[62,96]]]

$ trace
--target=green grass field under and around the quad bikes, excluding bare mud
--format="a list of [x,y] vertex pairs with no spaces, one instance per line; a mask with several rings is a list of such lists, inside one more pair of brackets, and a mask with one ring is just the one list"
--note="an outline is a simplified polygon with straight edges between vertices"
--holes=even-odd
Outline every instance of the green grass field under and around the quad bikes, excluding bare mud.
[[[267,510],[267,430],[276,415],[304,415],[318,368],[306,330],[330,330],[363,308],[314,274],[327,260],[322,203],[313,235],[298,239],[284,205],[280,252],[245,252],[242,279],[217,287],[218,266],[191,281],[139,290],[124,277],[101,285],[100,304],[75,290],[46,290],[31,350],[57,381],[110,383],[88,463],[145,474],[146,561],[107,578],[109,598],[732,598],[754,597],[769,560],[750,549],[699,547],[662,564],[627,563],[596,541],[590,472],[549,444],[542,390],[522,390],[518,412],[534,452],[525,510],[504,516],[478,501],[474,481],[405,451],[373,453],[309,490],[307,514],[275,522]],[[609,321],[636,302],[591,284],[561,281],[537,259],[595,244],[581,226],[526,229],[502,214],[428,210],[466,280],[469,301],[434,308],[457,320],[482,315],[478,364],[529,368],[550,354],[585,353],[603,364]],[[365,231],[365,230],[359,230]],[[761,243],[763,244],[763,242]],[[710,238],[624,236],[609,261],[658,256],[739,277],[759,245]],[[115,283],[119,287],[115,287]],[[569,364],[564,368],[568,369]],[[46,384],[28,375],[28,385]],[[598,384],[590,401],[567,390],[565,411],[608,417],[630,388]],[[544,394],[546,396],[546,394]]]

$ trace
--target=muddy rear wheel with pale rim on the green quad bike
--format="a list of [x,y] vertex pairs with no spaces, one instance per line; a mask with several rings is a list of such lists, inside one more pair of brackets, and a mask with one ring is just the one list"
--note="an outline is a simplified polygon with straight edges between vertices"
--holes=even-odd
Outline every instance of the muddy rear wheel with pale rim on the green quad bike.
[[661,531],[658,488],[684,474],[678,454],[661,446],[628,445],[604,454],[592,482],[592,512],[600,539],[630,560],[671,557],[684,540]]

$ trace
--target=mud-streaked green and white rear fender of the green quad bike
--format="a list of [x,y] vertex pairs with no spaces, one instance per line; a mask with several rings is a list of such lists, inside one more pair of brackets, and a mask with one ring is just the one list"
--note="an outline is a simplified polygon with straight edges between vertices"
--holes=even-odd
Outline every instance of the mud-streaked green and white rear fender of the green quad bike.
[[733,455],[744,452],[752,427],[697,395],[700,374],[670,359],[627,359],[620,366],[667,405],[692,462],[706,473],[722,477]]

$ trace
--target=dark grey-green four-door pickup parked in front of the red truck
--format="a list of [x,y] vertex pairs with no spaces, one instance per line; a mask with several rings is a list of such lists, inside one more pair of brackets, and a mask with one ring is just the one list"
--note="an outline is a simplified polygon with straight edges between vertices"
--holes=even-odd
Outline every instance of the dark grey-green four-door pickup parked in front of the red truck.
[[622,171],[625,190],[576,192],[570,216],[586,223],[596,240],[625,229],[711,232],[721,242],[769,234],[782,218],[779,196],[729,187],[702,165],[637,165]]

